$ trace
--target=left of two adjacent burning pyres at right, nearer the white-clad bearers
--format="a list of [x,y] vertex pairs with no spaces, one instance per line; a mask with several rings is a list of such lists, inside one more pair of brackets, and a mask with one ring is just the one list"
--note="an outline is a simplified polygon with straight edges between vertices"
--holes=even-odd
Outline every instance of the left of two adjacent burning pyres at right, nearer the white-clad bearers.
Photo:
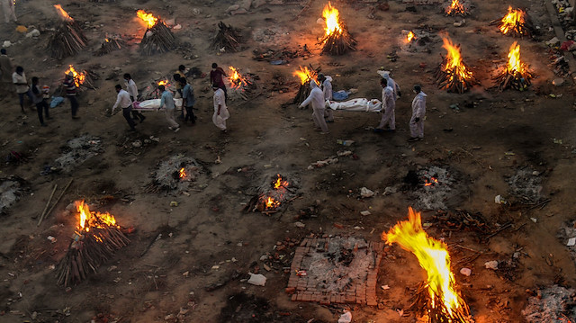
[[441,90],[463,94],[479,82],[470,68],[464,64],[460,55],[460,45],[455,45],[448,38],[443,40],[442,47],[447,50],[447,54],[437,69],[436,83]]

